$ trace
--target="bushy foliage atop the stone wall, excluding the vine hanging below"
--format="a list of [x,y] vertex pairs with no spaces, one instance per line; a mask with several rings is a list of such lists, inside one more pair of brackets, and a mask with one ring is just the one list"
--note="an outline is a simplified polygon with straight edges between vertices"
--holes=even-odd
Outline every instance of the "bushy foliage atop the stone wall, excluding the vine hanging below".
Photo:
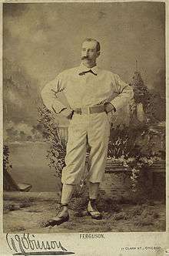
[[155,131],[148,126],[111,126],[108,144],[108,157],[138,157],[157,154],[164,148],[164,144],[155,145],[155,137],[163,140],[164,133]]

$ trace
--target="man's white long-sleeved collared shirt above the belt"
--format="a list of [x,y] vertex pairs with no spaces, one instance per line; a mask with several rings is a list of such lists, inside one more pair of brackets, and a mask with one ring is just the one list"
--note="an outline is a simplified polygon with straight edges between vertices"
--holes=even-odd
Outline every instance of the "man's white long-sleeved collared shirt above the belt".
[[[91,68],[92,72],[81,75],[90,69],[82,63],[67,69],[48,83],[41,91],[45,106],[55,113],[60,113],[65,105],[57,99],[57,93],[63,91],[71,109],[95,106],[110,102],[115,109],[121,109],[133,97],[133,89],[124,83],[117,74]],[[80,75],[79,75],[80,74]]]

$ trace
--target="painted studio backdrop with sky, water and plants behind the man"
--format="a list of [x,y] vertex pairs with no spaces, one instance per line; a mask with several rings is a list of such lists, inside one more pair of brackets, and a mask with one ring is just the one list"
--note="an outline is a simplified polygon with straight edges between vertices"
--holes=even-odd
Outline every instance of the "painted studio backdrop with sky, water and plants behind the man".
[[[148,194],[146,200],[164,203],[163,2],[3,4],[4,190],[60,192],[68,120],[45,109],[41,89],[79,65],[85,38],[101,43],[98,66],[134,89],[131,103],[110,120],[101,193],[116,200]],[[67,104],[63,93],[58,97]],[[154,231],[164,228],[163,220]]]

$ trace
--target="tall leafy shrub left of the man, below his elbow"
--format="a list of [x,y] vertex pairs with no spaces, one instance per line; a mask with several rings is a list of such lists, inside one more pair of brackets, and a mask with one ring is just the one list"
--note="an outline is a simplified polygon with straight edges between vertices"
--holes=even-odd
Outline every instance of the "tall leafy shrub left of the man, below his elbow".
[[65,141],[61,140],[58,133],[58,125],[55,122],[55,116],[45,106],[38,108],[41,125],[41,131],[46,140],[50,143],[47,159],[48,166],[55,168],[55,173],[61,177],[61,170],[65,166]]

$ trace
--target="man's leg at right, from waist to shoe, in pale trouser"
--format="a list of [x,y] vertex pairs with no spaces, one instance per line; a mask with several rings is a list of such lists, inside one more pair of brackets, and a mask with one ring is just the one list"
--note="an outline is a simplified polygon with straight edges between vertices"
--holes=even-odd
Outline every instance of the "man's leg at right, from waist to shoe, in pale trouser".
[[108,140],[110,134],[110,124],[106,113],[94,115],[91,117],[91,128],[88,130],[88,143],[91,147],[90,152],[90,170],[88,173],[89,186],[89,202],[88,214],[93,219],[100,220],[101,213],[96,206],[98,197],[98,188],[104,177],[104,170],[108,155]]

